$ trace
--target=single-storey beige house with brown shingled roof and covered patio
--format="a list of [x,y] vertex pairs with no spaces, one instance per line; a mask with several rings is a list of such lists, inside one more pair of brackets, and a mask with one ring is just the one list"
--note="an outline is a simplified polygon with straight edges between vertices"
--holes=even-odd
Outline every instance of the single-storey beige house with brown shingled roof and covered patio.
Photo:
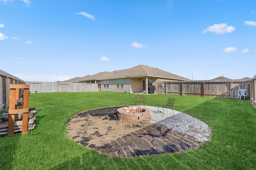
[[187,78],[158,68],[138,65],[128,69],[84,76],[78,82],[97,83],[100,86],[100,91],[150,94],[158,92],[159,81],[170,80],[189,81]]

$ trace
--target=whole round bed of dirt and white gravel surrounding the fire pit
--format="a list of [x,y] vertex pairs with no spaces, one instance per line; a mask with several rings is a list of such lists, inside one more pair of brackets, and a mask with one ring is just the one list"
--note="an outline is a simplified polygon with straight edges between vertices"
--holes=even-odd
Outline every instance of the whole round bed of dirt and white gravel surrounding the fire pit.
[[143,106],[150,110],[150,119],[120,121],[115,112],[120,107],[102,107],[72,116],[66,125],[68,136],[112,157],[182,153],[210,140],[211,129],[206,123],[180,111]]

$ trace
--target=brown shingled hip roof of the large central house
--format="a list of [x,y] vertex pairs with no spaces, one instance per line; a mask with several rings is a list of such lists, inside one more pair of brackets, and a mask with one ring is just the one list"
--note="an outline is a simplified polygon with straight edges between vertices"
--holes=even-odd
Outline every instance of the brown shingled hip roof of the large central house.
[[136,78],[136,77],[158,77],[158,78],[167,78],[173,80],[189,80],[188,78],[184,78],[170,72],[166,72],[164,70],[160,70],[158,68],[138,65],[132,68],[116,70],[112,72],[100,72],[94,74],[92,76],[84,76],[80,79],[81,81],[88,80],[109,80],[109,79],[118,79],[118,78]]

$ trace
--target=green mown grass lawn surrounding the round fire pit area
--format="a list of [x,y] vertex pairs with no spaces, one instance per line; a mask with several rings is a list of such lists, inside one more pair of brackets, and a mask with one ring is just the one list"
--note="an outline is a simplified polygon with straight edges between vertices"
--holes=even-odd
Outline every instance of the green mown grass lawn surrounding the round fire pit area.
[[[99,107],[133,104],[134,94],[116,92],[30,94],[36,108],[34,130],[0,137],[0,170],[167,170],[256,169],[256,108],[249,100],[171,96],[173,108],[207,123],[211,140],[181,154],[111,158],[85,148],[66,134],[72,115]],[[146,105],[157,106],[170,95],[147,95]]]

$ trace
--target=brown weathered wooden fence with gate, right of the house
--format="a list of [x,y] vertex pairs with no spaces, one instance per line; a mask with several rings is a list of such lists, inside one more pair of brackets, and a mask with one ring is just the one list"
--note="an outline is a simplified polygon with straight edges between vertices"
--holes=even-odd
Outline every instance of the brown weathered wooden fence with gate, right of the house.
[[246,89],[250,94],[250,81],[168,81],[159,82],[158,86],[159,94],[239,98],[239,89]]

